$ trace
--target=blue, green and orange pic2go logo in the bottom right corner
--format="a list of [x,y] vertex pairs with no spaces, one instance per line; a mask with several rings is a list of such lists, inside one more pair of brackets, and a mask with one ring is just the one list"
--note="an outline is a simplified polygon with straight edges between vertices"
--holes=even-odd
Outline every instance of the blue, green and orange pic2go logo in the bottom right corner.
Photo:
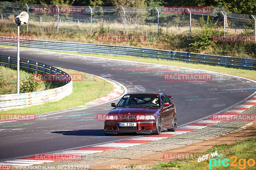
[[[237,161],[237,157],[236,156],[231,156],[230,160],[234,159],[234,161],[230,164],[230,166],[234,166],[237,167],[236,161]],[[214,163],[213,163],[214,162]],[[209,159],[209,169],[212,169],[212,167],[216,166],[218,163],[218,166],[220,166],[220,164],[222,164],[222,166],[229,166],[229,159],[222,159],[222,161],[220,160],[220,156],[218,161],[216,159]],[[212,164],[213,163],[213,164]],[[238,165],[239,165],[239,169],[245,169],[246,168],[246,163],[248,166],[252,167],[255,165],[255,160],[254,159],[248,159],[246,162],[246,159],[239,159],[238,160]]]

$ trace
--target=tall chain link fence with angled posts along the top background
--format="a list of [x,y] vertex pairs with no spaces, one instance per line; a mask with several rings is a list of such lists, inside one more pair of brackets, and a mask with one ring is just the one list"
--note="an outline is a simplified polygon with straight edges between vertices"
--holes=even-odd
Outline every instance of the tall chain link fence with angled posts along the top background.
[[[33,39],[52,34],[138,34],[154,41],[159,34],[186,34],[200,28],[200,22],[216,22],[226,34],[256,34],[256,16],[228,13],[220,8],[206,12],[184,7],[94,7],[57,6],[0,2],[1,27],[15,33],[15,16],[27,11],[29,22],[21,33]],[[175,11],[176,10],[176,11]],[[2,32],[1,34],[4,34]]]

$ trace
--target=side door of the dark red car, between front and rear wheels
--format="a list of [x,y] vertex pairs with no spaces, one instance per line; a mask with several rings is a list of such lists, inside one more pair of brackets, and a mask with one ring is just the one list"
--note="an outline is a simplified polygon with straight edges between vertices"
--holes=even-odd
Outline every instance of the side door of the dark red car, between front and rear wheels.
[[164,95],[161,95],[162,108],[160,110],[160,115],[162,117],[162,127],[166,128],[171,124],[170,123],[171,112],[170,112],[170,106],[164,107],[163,105],[164,103],[169,103],[169,102],[167,102],[167,99],[165,98]]

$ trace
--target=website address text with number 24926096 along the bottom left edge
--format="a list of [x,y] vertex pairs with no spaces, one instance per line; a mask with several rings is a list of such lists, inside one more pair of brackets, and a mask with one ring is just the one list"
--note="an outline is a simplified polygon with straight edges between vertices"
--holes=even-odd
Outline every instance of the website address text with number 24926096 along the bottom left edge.
[[31,165],[31,166],[21,166],[21,165],[0,165],[0,169],[89,169],[89,165]]

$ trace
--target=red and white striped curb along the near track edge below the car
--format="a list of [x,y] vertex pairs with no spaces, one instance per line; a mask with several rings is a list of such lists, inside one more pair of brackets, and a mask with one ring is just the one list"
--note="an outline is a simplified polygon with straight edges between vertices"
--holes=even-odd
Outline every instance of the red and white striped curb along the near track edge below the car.
[[[103,152],[103,151],[108,151],[108,150],[113,150],[113,149],[120,149],[120,148],[124,148],[124,147],[140,145],[143,143],[148,143],[148,142],[160,140],[163,138],[170,138],[172,136],[176,136],[176,135],[188,133],[191,131],[203,129],[212,124],[216,124],[218,122],[227,120],[228,118],[232,118],[232,117],[236,116],[237,114],[242,113],[243,111],[251,108],[255,104],[256,104],[256,95],[249,98],[245,102],[243,102],[229,110],[226,110],[222,113],[218,113],[211,117],[205,118],[203,120],[179,127],[179,128],[177,128],[177,130],[175,132],[164,131],[160,135],[147,135],[147,136],[143,136],[143,137],[137,137],[137,138],[127,139],[127,140],[122,140],[122,141],[117,141],[117,142],[111,142],[111,143],[89,146],[89,147],[84,147],[84,148],[79,148],[79,149],[72,149],[72,150],[68,150],[68,151],[50,153],[49,155],[53,155],[53,154],[54,155],[64,155],[64,154],[88,155],[88,154],[92,154],[92,153],[98,153],[98,152]],[[234,119],[234,121],[235,121],[235,119]],[[47,155],[47,153],[45,155]],[[22,158],[22,159],[12,159],[12,160],[1,161],[0,165],[32,166],[35,164],[42,164],[44,162],[53,162],[53,160],[51,160],[51,159],[48,159],[48,160],[47,159],[35,159],[35,157],[32,156],[32,157],[27,157],[27,158]]]

